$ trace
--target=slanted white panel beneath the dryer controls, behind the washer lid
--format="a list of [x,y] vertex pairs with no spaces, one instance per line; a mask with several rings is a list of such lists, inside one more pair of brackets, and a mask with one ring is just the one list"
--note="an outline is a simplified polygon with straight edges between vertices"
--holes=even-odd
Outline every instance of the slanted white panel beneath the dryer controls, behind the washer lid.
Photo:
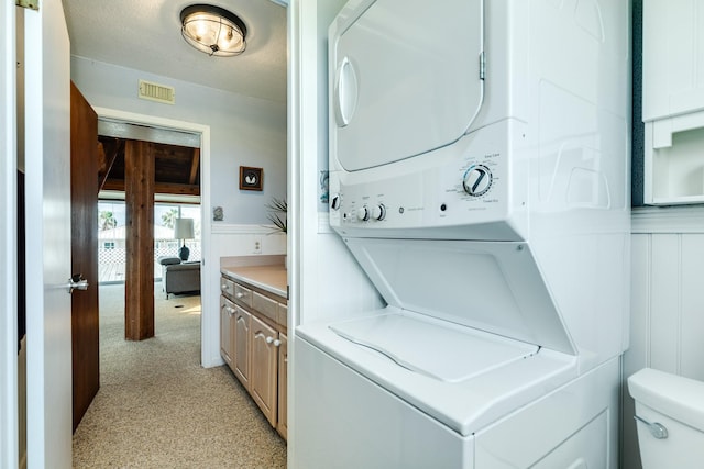
[[576,355],[528,243],[344,242],[392,306]]

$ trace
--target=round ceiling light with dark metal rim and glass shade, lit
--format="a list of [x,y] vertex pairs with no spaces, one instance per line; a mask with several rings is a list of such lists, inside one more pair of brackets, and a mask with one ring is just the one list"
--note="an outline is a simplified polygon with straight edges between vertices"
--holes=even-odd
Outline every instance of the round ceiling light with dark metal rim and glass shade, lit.
[[211,4],[191,4],[180,12],[180,33],[210,56],[230,57],[246,48],[246,26],[234,13]]

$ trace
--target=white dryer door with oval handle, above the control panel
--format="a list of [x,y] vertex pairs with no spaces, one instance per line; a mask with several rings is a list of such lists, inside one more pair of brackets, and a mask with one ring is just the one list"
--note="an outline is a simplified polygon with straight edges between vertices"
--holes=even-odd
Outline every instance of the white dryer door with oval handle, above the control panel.
[[483,0],[352,2],[330,27],[331,152],[349,171],[460,138],[483,100]]

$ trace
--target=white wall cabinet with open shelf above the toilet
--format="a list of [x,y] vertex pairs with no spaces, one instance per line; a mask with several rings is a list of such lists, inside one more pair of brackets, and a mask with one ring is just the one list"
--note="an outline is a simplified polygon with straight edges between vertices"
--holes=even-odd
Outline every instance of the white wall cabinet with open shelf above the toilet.
[[704,4],[644,0],[645,197],[704,202]]

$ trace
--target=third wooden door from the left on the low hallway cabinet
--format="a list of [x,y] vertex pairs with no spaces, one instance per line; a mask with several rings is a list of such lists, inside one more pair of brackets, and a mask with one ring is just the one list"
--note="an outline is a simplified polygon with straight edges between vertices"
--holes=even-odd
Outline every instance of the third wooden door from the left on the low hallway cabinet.
[[274,342],[278,333],[252,316],[252,368],[250,393],[266,418],[276,426],[276,382],[278,375],[278,347]]

